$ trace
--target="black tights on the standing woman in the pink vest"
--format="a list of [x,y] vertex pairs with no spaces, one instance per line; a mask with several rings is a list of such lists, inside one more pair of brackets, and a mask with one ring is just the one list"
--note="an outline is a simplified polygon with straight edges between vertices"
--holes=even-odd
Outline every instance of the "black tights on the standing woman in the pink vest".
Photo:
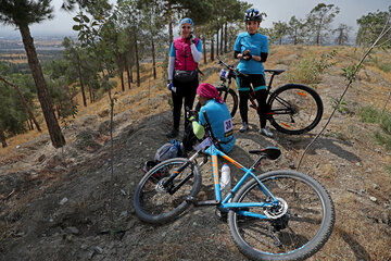
[[180,122],[180,111],[184,103],[185,98],[185,108],[188,107],[190,110],[194,103],[195,95],[197,95],[197,87],[198,87],[198,78],[194,80],[182,84],[178,83],[174,79],[174,86],[176,87],[176,92],[172,92],[173,98],[173,117],[174,117],[174,128],[179,129],[179,122]]

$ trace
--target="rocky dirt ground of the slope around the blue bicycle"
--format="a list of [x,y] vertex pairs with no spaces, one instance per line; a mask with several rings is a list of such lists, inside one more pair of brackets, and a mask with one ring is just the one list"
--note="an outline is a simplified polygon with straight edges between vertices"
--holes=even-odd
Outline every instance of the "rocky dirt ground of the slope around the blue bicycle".
[[[262,171],[297,166],[342,87],[338,69],[330,70],[317,87],[324,119],[310,134],[289,136],[273,129],[275,138],[261,136],[254,111],[250,132],[240,134],[237,115],[237,144],[230,156],[250,165],[254,161],[250,149],[273,145],[282,156],[265,162]],[[362,103],[358,87],[348,96],[351,113],[336,113],[300,169],[325,185],[337,211],[331,238],[311,260],[391,259],[391,178],[384,171],[390,151],[374,141],[378,126],[360,122],[355,114]],[[212,207],[190,208],[161,226],[135,215],[133,195],[143,162],[168,141],[167,98],[168,94],[154,97],[142,116],[137,108],[118,113],[113,145],[108,116],[89,115],[64,129],[64,149],[54,150],[42,135],[5,156],[0,165],[0,260],[247,260]],[[209,164],[202,173],[200,194],[207,197]]]

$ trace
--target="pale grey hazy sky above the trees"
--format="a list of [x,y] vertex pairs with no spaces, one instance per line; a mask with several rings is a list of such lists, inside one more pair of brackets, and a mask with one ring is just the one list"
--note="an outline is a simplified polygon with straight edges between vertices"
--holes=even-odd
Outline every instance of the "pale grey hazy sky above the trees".
[[[243,1],[243,0],[241,0]],[[75,22],[72,20],[76,15],[76,12],[67,13],[62,11],[61,4],[63,0],[53,0],[54,18],[35,24],[30,26],[33,36],[42,35],[59,35],[71,36],[76,35],[72,30],[72,26]],[[115,0],[111,0],[115,2]],[[377,10],[387,11],[391,5],[390,0],[247,0],[252,3],[254,8],[257,8],[261,12],[265,12],[267,17],[262,23],[263,27],[272,27],[273,22],[289,22],[290,17],[295,15],[298,18],[305,18],[305,15],[315,8],[318,3],[335,4],[340,8],[340,13],[336,16],[332,27],[337,27],[343,23],[353,27],[353,30],[357,29],[356,20],[362,15],[369,12],[376,12]],[[11,26],[0,25],[0,37],[4,36],[20,36],[20,33]]]

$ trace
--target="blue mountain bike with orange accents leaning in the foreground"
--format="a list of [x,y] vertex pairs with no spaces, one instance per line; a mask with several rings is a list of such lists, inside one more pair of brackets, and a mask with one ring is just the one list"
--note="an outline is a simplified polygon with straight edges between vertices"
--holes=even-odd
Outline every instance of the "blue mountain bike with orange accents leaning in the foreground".
[[[191,204],[215,206],[227,214],[230,235],[238,249],[252,260],[302,260],[316,253],[328,240],[335,224],[329,194],[313,177],[295,171],[272,171],[258,176],[263,159],[275,160],[280,150],[251,150],[256,161],[244,167],[222,150],[206,112],[206,138],[189,159],[176,158],[151,169],[138,184],[134,204],[137,216],[164,224],[180,216]],[[226,197],[222,197],[218,157],[244,172]],[[200,166],[212,158],[215,198],[200,201]],[[200,163],[198,160],[202,159]],[[249,179],[249,181],[248,181]]]

